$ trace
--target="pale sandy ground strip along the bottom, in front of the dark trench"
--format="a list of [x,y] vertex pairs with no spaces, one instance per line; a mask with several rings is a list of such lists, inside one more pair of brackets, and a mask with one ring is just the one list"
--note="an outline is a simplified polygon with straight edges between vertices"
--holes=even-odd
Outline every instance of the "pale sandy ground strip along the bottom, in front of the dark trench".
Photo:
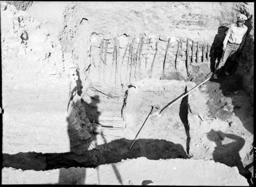
[[[160,173],[161,174],[160,174]],[[246,185],[237,168],[214,161],[167,159],[152,161],[145,157],[92,168],[69,168],[48,171],[4,168],[3,184],[105,184],[141,185]],[[195,180],[195,178],[197,180]]]

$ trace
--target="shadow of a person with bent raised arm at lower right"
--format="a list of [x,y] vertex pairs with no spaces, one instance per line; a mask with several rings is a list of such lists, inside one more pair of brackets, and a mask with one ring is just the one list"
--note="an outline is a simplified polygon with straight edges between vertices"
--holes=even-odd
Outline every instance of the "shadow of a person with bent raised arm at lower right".
[[[245,140],[231,133],[224,133],[220,130],[211,129],[207,138],[216,143],[212,158],[215,162],[223,163],[229,167],[237,167],[239,173],[245,178],[250,178],[251,173],[246,170],[241,161],[239,151],[243,148]],[[250,181],[248,180],[250,183]]]

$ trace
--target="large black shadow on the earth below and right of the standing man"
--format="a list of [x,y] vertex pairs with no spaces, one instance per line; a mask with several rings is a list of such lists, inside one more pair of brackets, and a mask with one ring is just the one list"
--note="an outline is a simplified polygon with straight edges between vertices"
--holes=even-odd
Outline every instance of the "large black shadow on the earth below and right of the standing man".
[[[224,74],[221,74],[218,78],[218,82],[220,83],[220,90],[222,91],[223,95],[225,97],[231,98],[232,102],[234,103],[234,114],[242,121],[243,126],[246,128],[246,130],[248,130],[252,134],[253,123],[249,123],[247,119],[248,116],[253,116],[253,103],[251,104],[251,110],[241,110],[240,105],[248,102],[250,100],[249,97],[251,97],[251,90],[249,90],[248,86],[252,85],[253,87],[253,72],[251,72],[250,70],[250,67],[252,67],[254,63],[254,51],[253,46],[251,45],[253,44],[253,42],[253,36],[247,35],[241,54],[233,54],[233,56],[231,56],[225,64],[225,68],[228,70],[230,75],[226,76]],[[248,54],[250,54],[250,56],[248,56]],[[242,97],[238,98],[238,95],[234,94],[234,92],[237,91],[241,92]],[[250,106],[247,105],[247,107],[249,108]],[[251,113],[248,113],[248,111],[251,111]],[[245,112],[247,114],[245,114]]]

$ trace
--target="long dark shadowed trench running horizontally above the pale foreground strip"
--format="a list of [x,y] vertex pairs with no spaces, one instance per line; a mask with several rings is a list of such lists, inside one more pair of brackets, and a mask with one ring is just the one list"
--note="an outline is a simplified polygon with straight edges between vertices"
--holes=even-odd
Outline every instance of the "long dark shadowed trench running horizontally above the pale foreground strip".
[[121,162],[122,159],[146,157],[147,159],[187,158],[180,144],[165,140],[138,139],[132,150],[129,147],[132,140],[119,139],[107,144],[98,145],[81,155],[73,152],[37,153],[19,152],[17,154],[3,153],[4,167],[22,170],[46,171],[58,168],[84,167],[95,168],[102,164]]

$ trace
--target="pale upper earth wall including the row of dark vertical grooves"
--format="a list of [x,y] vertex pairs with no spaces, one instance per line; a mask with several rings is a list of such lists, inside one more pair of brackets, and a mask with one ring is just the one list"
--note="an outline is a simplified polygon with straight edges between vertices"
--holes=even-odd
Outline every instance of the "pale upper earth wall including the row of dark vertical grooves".
[[204,79],[212,52],[221,54],[227,27],[244,11],[242,3],[135,4],[67,7],[60,41],[83,81],[90,71],[101,76],[90,76],[93,83],[113,87],[143,78]]

